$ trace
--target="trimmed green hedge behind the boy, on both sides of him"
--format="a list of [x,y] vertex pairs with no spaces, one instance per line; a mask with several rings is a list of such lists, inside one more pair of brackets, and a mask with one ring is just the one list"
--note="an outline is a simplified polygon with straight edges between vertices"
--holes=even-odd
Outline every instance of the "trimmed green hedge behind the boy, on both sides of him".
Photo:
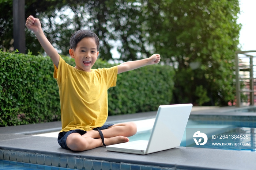
[[[75,62],[63,57],[70,65]],[[113,66],[100,59],[95,68]],[[174,71],[151,65],[118,75],[109,115],[155,111],[172,100]],[[60,120],[59,89],[49,57],[0,51],[0,127]]]

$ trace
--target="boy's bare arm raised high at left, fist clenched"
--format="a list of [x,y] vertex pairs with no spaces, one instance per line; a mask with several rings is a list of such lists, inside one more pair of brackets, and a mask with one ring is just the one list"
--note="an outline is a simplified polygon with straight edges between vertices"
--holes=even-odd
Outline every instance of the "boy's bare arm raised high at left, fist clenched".
[[45,50],[46,54],[50,56],[54,65],[56,65],[56,67],[58,68],[60,55],[58,54],[56,49],[54,49],[49,40],[46,38],[39,19],[34,18],[32,15],[30,15],[29,18],[27,18],[26,27],[35,33],[39,43]]

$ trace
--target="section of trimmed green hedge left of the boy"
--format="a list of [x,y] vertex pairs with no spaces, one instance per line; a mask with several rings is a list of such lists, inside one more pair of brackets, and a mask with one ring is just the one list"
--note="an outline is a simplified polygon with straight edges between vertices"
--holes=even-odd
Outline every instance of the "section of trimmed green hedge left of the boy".
[[0,51],[0,126],[60,119],[50,58]]

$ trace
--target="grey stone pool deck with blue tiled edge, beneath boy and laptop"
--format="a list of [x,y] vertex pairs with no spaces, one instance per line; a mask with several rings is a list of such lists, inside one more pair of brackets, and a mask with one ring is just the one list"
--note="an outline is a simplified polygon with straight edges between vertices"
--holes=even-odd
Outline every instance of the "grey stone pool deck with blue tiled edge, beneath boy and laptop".
[[[256,113],[245,112],[255,107],[193,107],[191,117],[229,116],[256,117]],[[136,113],[132,115],[109,116],[108,123],[122,120],[132,121],[148,119],[156,112]],[[61,123],[19,125],[0,128],[0,160],[33,163],[76,169],[225,169],[254,170],[256,152],[198,149],[177,147],[148,155],[125,154],[106,151],[105,147],[89,151],[74,152],[61,148],[56,138],[32,136],[43,132],[59,131]]]

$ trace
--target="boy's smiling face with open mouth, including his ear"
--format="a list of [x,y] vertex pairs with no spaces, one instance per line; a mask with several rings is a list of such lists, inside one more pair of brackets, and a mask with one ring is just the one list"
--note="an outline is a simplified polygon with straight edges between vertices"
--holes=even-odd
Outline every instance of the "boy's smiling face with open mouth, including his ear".
[[86,37],[77,44],[76,50],[69,49],[69,54],[75,59],[76,69],[91,72],[99,51],[97,51],[95,39]]

